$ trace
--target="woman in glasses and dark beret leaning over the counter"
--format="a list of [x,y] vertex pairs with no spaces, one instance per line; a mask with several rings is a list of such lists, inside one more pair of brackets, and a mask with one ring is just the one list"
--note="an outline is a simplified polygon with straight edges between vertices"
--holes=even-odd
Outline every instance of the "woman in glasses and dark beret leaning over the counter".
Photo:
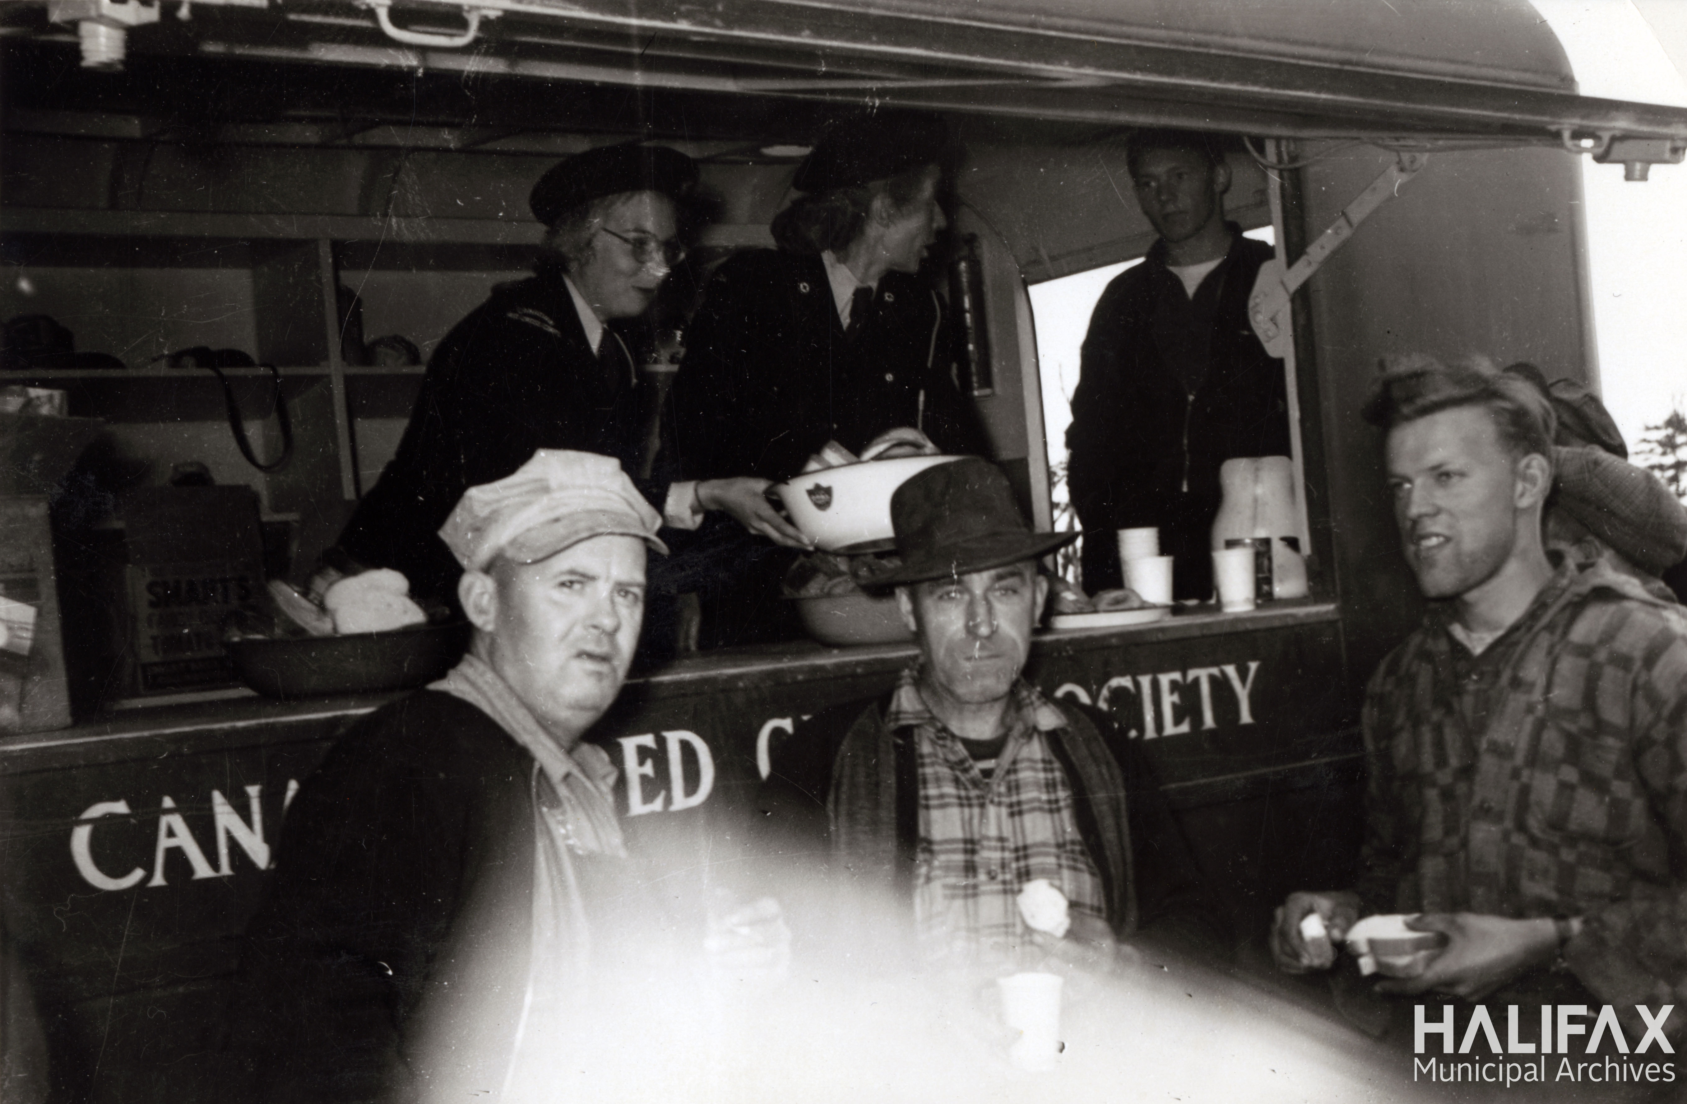
[[[540,177],[530,206],[548,230],[535,275],[498,287],[439,344],[398,452],[358,503],[341,552],[455,604],[462,571],[439,527],[462,491],[508,476],[535,449],[601,452],[638,473],[638,375],[606,322],[643,314],[685,255],[676,208],[695,184],[690,157],[655,145],[599,147]],[[695,528],[703,508],[724,508],[798,542],[763,500],[766,486],[673,486],[658,474],[639,490],[670,525]]]

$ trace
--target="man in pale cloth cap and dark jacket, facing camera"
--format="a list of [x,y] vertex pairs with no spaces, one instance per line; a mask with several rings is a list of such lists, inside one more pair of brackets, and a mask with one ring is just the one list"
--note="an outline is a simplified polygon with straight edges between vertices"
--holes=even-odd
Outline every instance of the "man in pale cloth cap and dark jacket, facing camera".
[[626,679],[660,523],[589,452],[540,449],[457,503],[440,537],[474,640],[299,792],[246,932],[238,1099],[543,1096],[626,858],[616,770],[580,738]]

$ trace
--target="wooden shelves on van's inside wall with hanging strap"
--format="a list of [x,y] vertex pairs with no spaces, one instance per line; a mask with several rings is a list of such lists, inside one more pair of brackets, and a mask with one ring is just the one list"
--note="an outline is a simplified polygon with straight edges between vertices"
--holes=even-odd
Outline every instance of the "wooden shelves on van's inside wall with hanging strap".
[[[260,488],[272,517],[354,500],[396,446],[422,366],[346,365],[336,289],[359,292],[366,336],[418,346],[520,277],[540,226],[516,219],[371,219],[342,214],[229,214],[7,208],[0,240],[13,284],[7,317],[44,312],[128,368],[0,373],[0,383],[62,388],[71,412],[110,422],[115,447],[162,478],[204,459],[219,481]],[[430,327],[430,329],[428,329]],[[294,461],[260,474],[238,459],[216,375],[167,368],[160,353],[240,348],[282,373]],[[267,368],[228,368],[261,456],[280,447]]]

